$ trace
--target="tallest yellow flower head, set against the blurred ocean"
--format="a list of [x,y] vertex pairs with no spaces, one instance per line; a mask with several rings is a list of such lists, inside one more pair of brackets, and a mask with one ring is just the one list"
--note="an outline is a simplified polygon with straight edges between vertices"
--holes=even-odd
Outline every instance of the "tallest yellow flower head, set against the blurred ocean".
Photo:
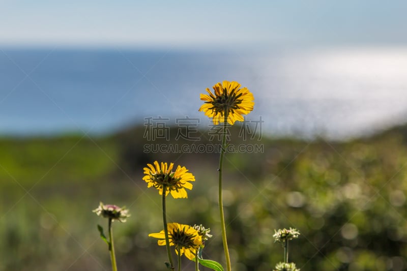
[[240,88],[241,84],[232,81],[223,81],[213,86],[215,95],[207,88],[208,94],[201,94],[200,99],[205,101],[199,111],[212,117],[215,125],[224,122],[224,115],[227,115],[227,122],[233,125],[236,121],[243,122],[243,116],[253,110],[254,97],[246,87]]

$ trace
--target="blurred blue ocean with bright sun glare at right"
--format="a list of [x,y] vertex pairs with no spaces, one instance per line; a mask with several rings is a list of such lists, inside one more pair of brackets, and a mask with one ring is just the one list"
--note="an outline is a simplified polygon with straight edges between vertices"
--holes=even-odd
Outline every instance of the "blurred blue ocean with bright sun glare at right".
[[0,48],[0,135],[112,133],[158,116],[205,126],[199,94],[235,80],[264,134],[346,138],[405,122],[405,71],[407,48]]

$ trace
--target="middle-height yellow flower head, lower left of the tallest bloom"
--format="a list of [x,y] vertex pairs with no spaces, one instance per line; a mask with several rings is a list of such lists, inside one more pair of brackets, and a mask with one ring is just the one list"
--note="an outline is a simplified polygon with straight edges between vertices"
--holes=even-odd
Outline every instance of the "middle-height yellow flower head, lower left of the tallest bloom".
[[195,177],[192,173],[188,172],[185,167],[178,166],[175,172],[172,172],[174,166],[170,163],[161,162],[161,167],[157,161],[152,164],[147,164],[148,167],[144,167],[143,180],[148,183],[148,187],[155,187],[159,190],[160,195],[163,193],[163,186],[165,185],[165,196],[171,192],[173,198],[187,198],[187,191],[185,189],[192,189],[192,184]]

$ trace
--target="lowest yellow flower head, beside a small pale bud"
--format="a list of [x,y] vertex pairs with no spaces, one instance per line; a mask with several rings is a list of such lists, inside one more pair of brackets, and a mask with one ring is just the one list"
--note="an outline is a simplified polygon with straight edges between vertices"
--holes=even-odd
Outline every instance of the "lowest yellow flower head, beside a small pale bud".
[[[178,223],[168,223],[168,239],[169,245],[175,246],[178,255],[178,250],[181,252],[181,256],[185,256],[193,260],[195,258],[195,253],[199,250],[202,244],[202,238],[198,234],[198,231],[191,226],[178,224]],[[157,233],[150,233],[150,237],[158,238],[158,245],[165,246],[165,234],[164,230]]]

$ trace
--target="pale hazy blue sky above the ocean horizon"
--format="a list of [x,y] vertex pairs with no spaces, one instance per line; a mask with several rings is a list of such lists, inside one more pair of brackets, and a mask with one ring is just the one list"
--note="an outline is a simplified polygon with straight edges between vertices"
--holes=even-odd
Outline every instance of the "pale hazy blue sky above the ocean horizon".
[[0,44],[403,45],[407,1],[21,1],[0,3]]

